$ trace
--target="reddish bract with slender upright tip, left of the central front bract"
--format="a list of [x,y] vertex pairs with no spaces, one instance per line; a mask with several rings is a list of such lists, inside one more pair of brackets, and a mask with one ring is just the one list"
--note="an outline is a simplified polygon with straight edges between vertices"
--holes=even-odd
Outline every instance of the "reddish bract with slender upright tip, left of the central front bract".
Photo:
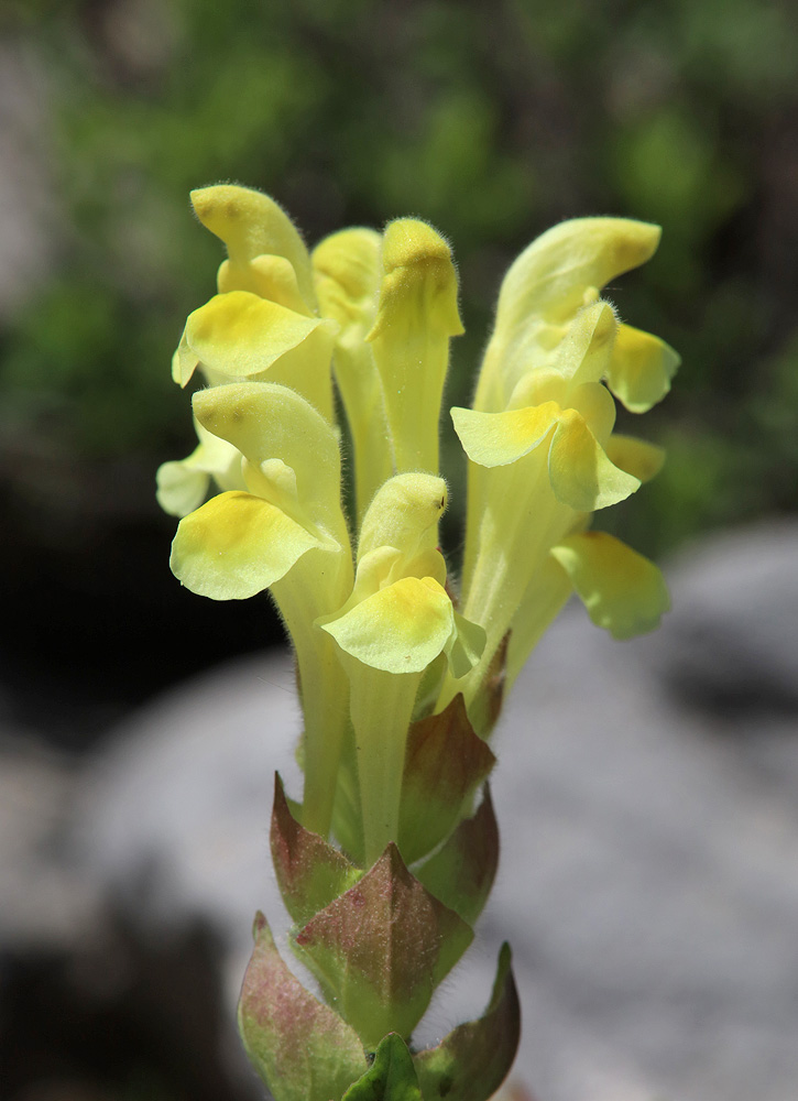
[[304,924],[363,874],[318,833],[294,818],[280,775],[274,775],[272,860],[280,893],[292,918]]

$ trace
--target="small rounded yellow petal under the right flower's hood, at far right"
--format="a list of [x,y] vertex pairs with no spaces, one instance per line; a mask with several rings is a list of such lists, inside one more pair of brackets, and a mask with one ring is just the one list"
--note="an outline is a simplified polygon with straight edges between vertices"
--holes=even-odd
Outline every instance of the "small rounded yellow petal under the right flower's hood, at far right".
[[645,413],[670,390],[678,352],[651,333],[622,325],[606,370],[613,394],[632,413]]

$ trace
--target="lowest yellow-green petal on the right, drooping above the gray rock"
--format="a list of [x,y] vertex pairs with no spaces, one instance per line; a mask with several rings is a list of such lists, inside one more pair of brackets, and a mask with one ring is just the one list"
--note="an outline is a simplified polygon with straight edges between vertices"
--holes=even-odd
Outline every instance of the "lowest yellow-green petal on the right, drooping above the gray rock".
[[551,554],[597,626],[632,639],[659,625],[670,598],[658,567],[604,532],[570,535]]

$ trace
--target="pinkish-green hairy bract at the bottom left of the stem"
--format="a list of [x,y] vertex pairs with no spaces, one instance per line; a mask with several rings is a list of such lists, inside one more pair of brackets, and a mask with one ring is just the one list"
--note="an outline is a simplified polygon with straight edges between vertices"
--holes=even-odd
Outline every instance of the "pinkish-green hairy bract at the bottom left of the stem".
[[275,1101],[338,1101],[367,1068],[357,1033],[289,971],[265,917],[239,1001],[241,1039]]

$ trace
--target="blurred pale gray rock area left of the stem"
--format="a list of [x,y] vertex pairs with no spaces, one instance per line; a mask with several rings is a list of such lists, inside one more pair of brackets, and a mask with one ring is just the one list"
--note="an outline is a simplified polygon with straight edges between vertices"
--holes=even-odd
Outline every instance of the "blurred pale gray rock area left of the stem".
[[276,770],[302,792],[299,729],[291,657],[256,655],[143,709],[84,778],[85,865],[144,935],[207,925],[234,961],[231,1004],[255,911],[282,913],[269,822]]

